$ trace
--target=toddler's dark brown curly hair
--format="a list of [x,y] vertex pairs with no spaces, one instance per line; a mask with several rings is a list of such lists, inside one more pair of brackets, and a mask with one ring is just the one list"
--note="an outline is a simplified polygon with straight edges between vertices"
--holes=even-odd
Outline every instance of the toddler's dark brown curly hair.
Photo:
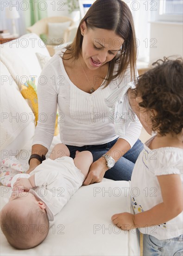
[[[140,111],[159,135],[180,134],[183,129],[183,60],[164,58],[139,76],[133,94]],[[149,115],[148,113],[151,113]]]

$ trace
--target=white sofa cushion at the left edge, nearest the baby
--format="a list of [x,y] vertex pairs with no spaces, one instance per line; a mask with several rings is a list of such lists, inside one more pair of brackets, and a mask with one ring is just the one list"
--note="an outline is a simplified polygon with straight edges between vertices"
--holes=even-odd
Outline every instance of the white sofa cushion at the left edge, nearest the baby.
[[[11,78],[5,65],[0,62],[0,159],[18,155],[35,132],[31,108]],[[28,160],[27,160],[28,161]]]

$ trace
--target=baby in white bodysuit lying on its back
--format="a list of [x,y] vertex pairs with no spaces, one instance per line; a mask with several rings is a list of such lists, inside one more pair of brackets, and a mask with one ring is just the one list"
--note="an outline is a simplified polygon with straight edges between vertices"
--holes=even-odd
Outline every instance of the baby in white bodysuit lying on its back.
[[74,160],[69,155],[67,146],[57,144],[30,175],[13,177],[12,196],[0,212],[1,229],[13,247],[30,249],[42,243],[54,216],[82,186],[93,156],[89,151],[76,151]]

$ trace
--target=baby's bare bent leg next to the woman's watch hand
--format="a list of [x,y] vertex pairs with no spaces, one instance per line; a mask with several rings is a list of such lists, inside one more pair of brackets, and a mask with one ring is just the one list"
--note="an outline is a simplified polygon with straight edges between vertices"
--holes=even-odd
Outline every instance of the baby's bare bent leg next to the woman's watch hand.
[[81,170],[82,174],[86,178],[90,165],[93,163],[93,155],[89,151],[76,152],[74,163],[78,169]]

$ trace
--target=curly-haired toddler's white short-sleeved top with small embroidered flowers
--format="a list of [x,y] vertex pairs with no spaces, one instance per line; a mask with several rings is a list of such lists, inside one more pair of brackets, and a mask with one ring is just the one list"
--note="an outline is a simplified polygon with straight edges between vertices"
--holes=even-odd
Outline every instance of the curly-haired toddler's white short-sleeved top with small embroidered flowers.
[[[173,147],[150,149],[148,145],[152,139],[145,143],[132,173],[131,198],[135,214],[163,202],[158,175],[178,174],[183,182],[183,150]],[[183,234],[183,212],[166,223],[139,230],[159,240],[180,236]]]

